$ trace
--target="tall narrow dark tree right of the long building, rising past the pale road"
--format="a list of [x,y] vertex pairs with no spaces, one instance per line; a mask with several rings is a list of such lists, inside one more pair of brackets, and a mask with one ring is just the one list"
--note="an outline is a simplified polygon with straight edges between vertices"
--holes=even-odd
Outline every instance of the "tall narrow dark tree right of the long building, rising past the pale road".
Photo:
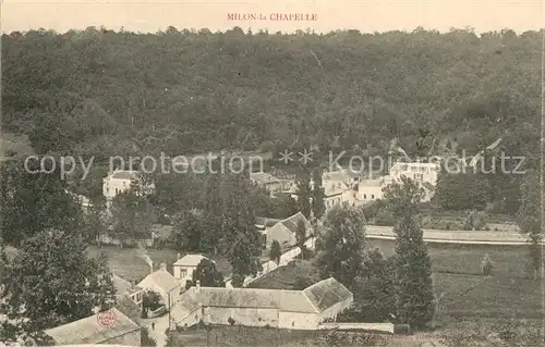
[[423,189],[407,177],[385,189],[396,219],[397,317],[415,329],[423,327],[435,314],[432,262],[417,221],[423,196]]

